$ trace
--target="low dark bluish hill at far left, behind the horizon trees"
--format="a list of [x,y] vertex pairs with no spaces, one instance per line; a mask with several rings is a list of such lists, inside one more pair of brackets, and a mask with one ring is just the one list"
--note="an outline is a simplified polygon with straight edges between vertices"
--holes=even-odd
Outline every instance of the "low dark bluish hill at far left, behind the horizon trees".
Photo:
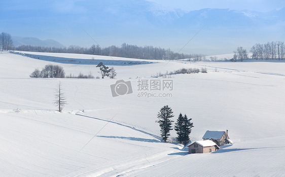
[[32,37],[12,37],[13,45],[15,47],[22,46],[22,45],[31,45],[31,46],[41,46],[41,47],[57,47],[57,48],[63,48],[62,44],[55,40],[40,40],[38,38],[32,38]]

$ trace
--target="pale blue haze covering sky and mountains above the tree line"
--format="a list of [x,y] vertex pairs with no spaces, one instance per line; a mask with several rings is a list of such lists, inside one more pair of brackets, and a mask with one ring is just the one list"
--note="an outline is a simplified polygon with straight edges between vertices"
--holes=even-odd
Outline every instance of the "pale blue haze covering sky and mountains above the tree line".
[[[180,53],[225,54],[282,41],[283,1],[9,1],[0,32],[90,47],[123,43]],[[207,9],[210,8],[210,9]],[[86,34],[86,32],[88,34]]]

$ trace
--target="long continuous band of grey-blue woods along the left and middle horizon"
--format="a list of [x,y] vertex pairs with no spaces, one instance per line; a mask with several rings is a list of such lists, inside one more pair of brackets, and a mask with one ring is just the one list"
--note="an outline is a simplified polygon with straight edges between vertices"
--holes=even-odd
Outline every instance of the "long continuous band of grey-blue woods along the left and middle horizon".
[[92,45],[90,48],[80,46],[69,46],[68,48],[56,47],[41,47],[23,45],[15,47],[15,50],[29,51],[29,52],[51,52],[51,53],[78,53],[78,54],[91,54],[91,55],[104,55],[104,56],[117,56],[126,58],[138,59],[157,59],[157,60],[176,60],[184,58],[195,58],[201,60],[202,55],[197,54],[179,54],[174,53],[170,49],[163,49],[160,47],[145,46],[139,47],[136,45],[128,45],[126,43],[118,46],[109,46],[101,48],[99,45]]

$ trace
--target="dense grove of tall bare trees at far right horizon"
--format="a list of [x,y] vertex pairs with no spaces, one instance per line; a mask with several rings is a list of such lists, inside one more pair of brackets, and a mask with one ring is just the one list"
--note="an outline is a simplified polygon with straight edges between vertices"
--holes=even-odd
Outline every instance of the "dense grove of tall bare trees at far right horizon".
[[285,59],[285,45],[281,41],[267,42],[266,44],[255,44],[251,48],[253,59],[271,59],[284,60]]

